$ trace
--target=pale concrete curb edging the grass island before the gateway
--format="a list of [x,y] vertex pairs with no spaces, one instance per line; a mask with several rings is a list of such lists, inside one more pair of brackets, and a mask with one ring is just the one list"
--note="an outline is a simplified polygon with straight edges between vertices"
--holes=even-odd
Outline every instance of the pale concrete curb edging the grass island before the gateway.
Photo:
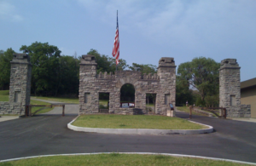
[[[79,117],[79,116],[78,116]],[[212,126],[198,123],[207,126],[208,129],[103,129],[103,128],[83,128],[73,126],[72,123],[78,118],[74,118],[73,121],[67,123],[68,129],[73,129],[74,131],[92,132],[92,133],[102,133],[102,134],[118,134],[118,135],[198,135],[212,133]],[[189,121],[195,123],[193,121]]]

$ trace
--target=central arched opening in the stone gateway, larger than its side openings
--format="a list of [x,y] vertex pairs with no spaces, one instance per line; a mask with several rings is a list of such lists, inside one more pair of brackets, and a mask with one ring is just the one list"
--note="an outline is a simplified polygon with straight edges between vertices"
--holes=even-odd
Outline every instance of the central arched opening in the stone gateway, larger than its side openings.
[[135,106],[135,88],[131,83],[125,83],[120,89],[120,106]]

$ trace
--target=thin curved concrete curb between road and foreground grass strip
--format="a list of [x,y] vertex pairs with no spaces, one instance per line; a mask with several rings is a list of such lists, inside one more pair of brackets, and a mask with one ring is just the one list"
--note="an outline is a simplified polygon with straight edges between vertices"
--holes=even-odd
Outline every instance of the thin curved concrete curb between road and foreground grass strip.
[[[3,162],[11,162],[21,159],[29,159],[35,157],[54,157],[54,156],[79,156],[79,155],[97,155],[97,154],[110,154],[114,152],[94,152],[94,153],[71,153],[71,154],[54,154],[54,155],[39,155],[39,156],[32,156],[32,157],[18,157],[18,158],[10,158],[6,160],[0,160],[0,163]],[[238,160],[230,160],[224,158],[216,158],[216,157],[201,157],[201,156],[194,156],[194,155],[183,155],[183,154],[172,154],[172,153],[155,153],[155,152],[117,152],[119,154],[148,154],[148,155],[165,155],[165,156],[172,156],[172,157],[193,157],[193,158],[202,158],[202,159],[210,159],[215,161],[224,161],[224,162],[232,162],[232,163],[244,163],[244,164],[251,164],[256,165],[256,163],[249,163],[249,162],[242,162]]]

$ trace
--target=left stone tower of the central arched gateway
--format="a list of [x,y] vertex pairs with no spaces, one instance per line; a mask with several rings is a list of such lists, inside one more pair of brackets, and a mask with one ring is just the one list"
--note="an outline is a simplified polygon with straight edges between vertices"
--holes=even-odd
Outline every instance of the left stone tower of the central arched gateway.
[[98,112],[99,97],[96,91],[96,59],[82,55],[79,70],[79,114]]

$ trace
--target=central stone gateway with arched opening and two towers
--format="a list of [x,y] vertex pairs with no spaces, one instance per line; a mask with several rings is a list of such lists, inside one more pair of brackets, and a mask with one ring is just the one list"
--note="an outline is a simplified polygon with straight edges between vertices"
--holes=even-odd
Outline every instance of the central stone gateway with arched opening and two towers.
[[[146,111],[146,94],[156,94],[155,113],[166,115],[172,103],[175,106],[176,66],[173,58],[159,60],[158,72],[154,75],[135,71],[117,71],[115,74],[96,73],[96,58],[82,55],[80,63],[79,114],[99,112],[99,93],[109,93],[109,112],[134,114]],[[135,107],[120,107],[120,89],[126,83],[135,89]]]

